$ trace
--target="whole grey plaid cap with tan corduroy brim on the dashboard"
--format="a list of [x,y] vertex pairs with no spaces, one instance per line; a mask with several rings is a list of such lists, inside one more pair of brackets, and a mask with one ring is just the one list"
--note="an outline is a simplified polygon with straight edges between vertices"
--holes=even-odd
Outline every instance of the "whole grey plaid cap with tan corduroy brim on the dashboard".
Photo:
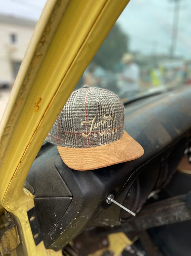
[[62,160],[75,170],[94,170],[144,153],[124,131],[124,107],[119,97],[96,87],[73,91],[47,140],[57,145]]

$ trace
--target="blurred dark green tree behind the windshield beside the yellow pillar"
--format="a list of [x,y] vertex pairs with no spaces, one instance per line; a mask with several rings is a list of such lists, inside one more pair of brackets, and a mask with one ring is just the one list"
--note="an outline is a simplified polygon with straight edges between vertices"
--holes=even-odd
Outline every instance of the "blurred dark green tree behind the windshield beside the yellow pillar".
[[128,51],[128,41],[128,36],[121,30],[119,24],[115,23],[92,62],[113,70],[114,65],[119,63],[122,55]]

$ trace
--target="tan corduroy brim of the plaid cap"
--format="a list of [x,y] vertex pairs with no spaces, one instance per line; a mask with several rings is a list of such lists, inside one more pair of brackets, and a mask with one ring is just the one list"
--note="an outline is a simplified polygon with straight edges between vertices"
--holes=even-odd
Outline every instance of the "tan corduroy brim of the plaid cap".
[[141,157],[144,149],[126,131],[115,142],[90,148],[57,146],[63,162],[71,169],[87,171],[131,161]]

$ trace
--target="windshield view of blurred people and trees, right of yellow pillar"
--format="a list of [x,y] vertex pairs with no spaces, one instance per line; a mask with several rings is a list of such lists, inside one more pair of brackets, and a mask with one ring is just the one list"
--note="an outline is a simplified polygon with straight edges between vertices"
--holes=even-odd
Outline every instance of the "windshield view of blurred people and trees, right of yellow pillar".
[[130,1],[76,89],[102,87],[125,102],[190,84],[190,11],[188,0]]

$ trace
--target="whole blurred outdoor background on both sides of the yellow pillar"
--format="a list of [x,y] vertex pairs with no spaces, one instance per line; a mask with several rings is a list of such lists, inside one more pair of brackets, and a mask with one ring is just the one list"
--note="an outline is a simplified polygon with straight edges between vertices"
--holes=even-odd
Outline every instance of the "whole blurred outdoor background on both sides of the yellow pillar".
[[[45,3],[0,1],[0,118]],[[189,0],[131,0],[76,89],[102,87],[126,102],[191,84],[190,12]]]

